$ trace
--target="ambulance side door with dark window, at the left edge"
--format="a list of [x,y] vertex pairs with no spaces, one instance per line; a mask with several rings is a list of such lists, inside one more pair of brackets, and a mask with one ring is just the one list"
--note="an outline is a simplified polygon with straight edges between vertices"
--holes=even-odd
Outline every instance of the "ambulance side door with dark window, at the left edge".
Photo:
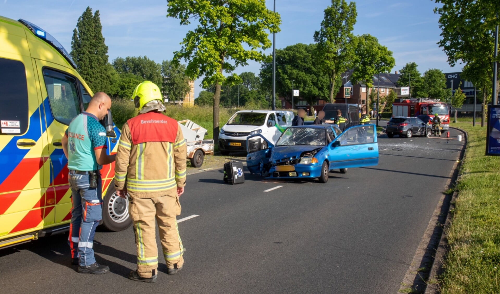
[[7,40],[0,57],[0,239],[53,221],[53,207],[46,205],[48,151],[33,64],[29,51],[8,53],[9,46],[27,49],[25,36],[7,34]]

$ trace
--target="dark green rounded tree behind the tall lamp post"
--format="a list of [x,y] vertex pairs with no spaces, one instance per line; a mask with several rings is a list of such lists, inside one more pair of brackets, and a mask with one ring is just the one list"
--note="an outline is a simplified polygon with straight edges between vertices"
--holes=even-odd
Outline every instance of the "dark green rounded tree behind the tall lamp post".
[[[326,99],[329,92],[327,75],[315,63],[316,44],[294,44],[276,50],[276,94],[291,102],[293,87],[312,107],[318,98]],[[260,68],[262,86],[272,85],[272,62],[263,62]],[[340,76],[338,76],[340,78]],[[295,101],[298,97],[295,97]]]

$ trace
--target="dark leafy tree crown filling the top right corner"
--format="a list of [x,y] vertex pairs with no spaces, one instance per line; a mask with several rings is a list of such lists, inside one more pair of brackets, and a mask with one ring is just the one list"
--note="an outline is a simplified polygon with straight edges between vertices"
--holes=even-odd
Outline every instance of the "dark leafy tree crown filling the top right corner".
[[[473,63],[476,74],[475,84],[479,80],[489,81],[492,84],[492,70],[477,70],[478,66],[492,67],[493,62],[498,62],[500,56],[494,60],[494,36],[495,25],[500,23],[500,18],[495,13],[500,11],[500,1],[497,0],[436,0],[441,3],[440,8],[435,8],[434,13],[439,14],[439,28],[441,28],[441,40],[437,42],[439,47],[448,56],[448,63],[454,66],[456,62]],[[465,66],[466,67],[466,66]],[[467,74],[468,77],[471,77]],[[500,78],[500,66],[498,66],[497,78]],[[496,81],[498,96],[500,87],[499,80]]]

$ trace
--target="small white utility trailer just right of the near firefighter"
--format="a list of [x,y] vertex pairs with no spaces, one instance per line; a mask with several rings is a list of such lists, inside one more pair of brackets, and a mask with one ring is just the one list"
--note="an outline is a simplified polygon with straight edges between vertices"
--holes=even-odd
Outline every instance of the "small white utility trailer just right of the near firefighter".
[[206,129],[189,119],[178,123],[186,140],[186,157],[191,160],[191,166],[200,167],[205,155],[213,155],[213,140],[205,140]]

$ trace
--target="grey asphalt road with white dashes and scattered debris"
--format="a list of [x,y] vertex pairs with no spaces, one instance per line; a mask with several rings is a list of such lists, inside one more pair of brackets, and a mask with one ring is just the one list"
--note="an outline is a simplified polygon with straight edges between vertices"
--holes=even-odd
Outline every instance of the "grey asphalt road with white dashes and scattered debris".
[[378,140],[377,166],[331,172],[326,184],[189,175],[178,219],[199,216],[179,223],[184,268],[167,275],[160,262],[154,284],[126,278],[136,261],[128,228],[96,233],[104,275],[76,272],[67,234],[2,249],[0,292],[396,293],[463,141]]

